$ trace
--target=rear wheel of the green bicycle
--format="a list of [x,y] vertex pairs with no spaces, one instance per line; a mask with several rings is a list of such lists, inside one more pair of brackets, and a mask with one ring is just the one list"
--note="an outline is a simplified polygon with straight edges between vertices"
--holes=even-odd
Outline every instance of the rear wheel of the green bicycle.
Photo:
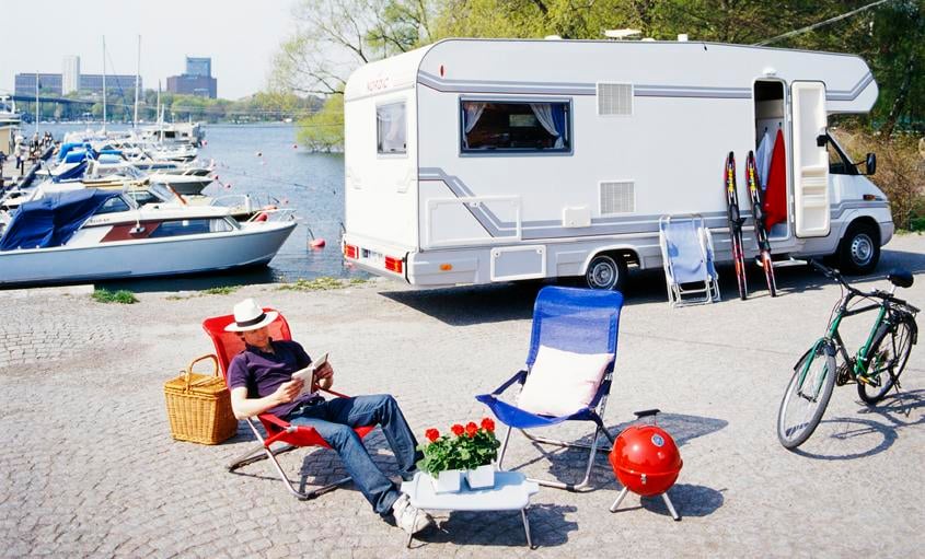
[[870,384],[860,381],[857,383],[857,395],[860,399],[872,405],[887,396],[905,369],[914,338],[915,323],[907,318],[901,319],[895,326],[880,326],[868,350],[871,358],[865,379]]

